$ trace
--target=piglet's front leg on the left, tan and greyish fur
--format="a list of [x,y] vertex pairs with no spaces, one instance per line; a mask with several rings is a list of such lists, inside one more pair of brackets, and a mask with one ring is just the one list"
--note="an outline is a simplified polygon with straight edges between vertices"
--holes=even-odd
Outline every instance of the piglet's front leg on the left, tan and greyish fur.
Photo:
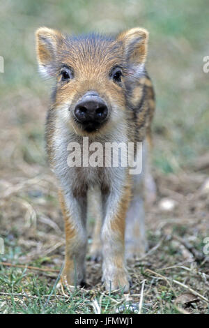
[[86,197],[82,199],[59,192],[65,221],[65,266],[61,281],[68,285],[84,285],[86,257]]

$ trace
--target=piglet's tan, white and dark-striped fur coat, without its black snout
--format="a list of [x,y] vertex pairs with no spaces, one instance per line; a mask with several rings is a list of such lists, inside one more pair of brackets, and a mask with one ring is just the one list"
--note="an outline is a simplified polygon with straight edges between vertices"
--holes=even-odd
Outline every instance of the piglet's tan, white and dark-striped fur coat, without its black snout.
[[[153,84],[145,67],[148,32],[137,27],[117,36],[92,33],[77,37],[41,27],[36,31],[36,44],[40,73],[54,78],[46,141],[65,221],[62,279],[72,286],[85,282],[86,218],[93,207],[98,221],[92,258],[102,258],[102,280],[107,290],[127,291],[130,278],[125,254],[134,258],[146,250],[145,158],[155,110]],[[118,80],[114,80],[116,70],[120,71]],[[75,106],[88,91],[96,92],[108,107],[107,119],[91,132],[75,119]],[[128,167],[122,165],[69,167],[69,142],[78,142],[82,156],[87,156],[82,147],[86,136],[89,142],[100,142],[102,147],[106,142],[144,142],[143,173],[130,176]],[[97,206],[93,205],[95,201]]]

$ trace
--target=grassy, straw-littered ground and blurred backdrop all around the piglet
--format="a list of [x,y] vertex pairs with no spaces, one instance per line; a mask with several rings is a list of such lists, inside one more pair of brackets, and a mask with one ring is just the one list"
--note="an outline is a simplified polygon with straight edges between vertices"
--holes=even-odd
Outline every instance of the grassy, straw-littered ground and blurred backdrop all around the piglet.
[[[209,313],[209,264],[203,253],[209,237],[209,75],[202,68],[208,10],[206,0],[1,3],[0,236],[5,253],[0,313]],[[101,264],[88,257],[86,290],[54,290],[64,237],[56,181],[44,150],[51,82],[38,76],[33,38],[42,25],[75,33],[137,25],[150,31],[157,200],[146,209],[150,251],[129,266],[130,295],[105,292]],[[162,208],[164,197],[174,204],[170,211]]]

